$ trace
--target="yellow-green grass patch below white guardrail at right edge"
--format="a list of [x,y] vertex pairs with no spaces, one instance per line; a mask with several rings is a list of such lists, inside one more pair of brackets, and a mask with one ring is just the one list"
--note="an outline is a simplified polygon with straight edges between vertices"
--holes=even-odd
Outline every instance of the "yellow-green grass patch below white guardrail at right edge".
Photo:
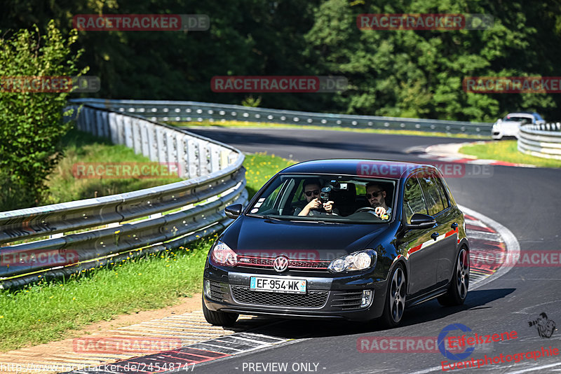
[[475,155],[477,158],[501,160],[517,164],[536,165],[539,167],[561,167],[561,160],[549,160],[521,153],[516,140],[492,141],[485,144],[462,146],[459,151],[464,155]]

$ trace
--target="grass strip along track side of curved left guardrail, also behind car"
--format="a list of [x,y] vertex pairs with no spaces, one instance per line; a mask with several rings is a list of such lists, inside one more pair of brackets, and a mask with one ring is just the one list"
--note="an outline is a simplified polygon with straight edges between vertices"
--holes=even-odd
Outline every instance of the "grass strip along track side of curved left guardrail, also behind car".
[[[250,195],[294,162],[247,155]],[[69,279],[0,290],[0,352],[69,338],[69,331],[116,315],[153,310],[200,293],[203,265],[216,236],[165,254],[109,264]]]

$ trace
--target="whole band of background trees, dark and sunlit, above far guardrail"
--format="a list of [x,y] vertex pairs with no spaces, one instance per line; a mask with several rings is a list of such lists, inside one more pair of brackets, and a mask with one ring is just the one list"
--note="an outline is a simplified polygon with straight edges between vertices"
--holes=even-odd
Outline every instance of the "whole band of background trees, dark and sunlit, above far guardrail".
[[[0,29],[72,27],[76,14],[189,13],[206,32],[79,32],[95,96],[239,104],[210,90],[213,76],[341,75],[340,93],[264,93],[259,106],[304,111],[493,121],[509,111],[561,118],[561,95],[464,92],[466,76],[559,76],[561,3],[512,0],[41,0],[8,1]],[[360,30],[362,13],[483,13],[487,30]],[[90,95],[90,94],[88,94]],[[255,96],[255,95],[254,95]]]

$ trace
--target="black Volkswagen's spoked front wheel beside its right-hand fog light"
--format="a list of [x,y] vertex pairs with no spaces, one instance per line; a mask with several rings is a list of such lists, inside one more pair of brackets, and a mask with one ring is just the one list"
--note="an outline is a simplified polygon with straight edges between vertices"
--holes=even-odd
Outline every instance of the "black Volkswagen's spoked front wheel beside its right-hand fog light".
[[384,312],[381,317],[384,325],[391,328],[400,324],[405,310],[406,293],[405,270],[403,270],[403,265],[398,264],[388,278],[386,303],[384,304]]

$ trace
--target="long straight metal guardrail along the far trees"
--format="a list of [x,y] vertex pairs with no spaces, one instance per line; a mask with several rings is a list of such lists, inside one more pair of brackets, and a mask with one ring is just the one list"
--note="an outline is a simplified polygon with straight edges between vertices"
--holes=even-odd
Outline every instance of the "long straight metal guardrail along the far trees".
[[211,104],[205,102],[167,102],[144,100],[76,99],[76,103],[109,108],[119,113],[163,121],[241,120],[262,123],[287,123],[292,125],[342,126],[388,130],[417,130],[482,134],[490,136],[492,123],[471,123],[456,120],[426,120],[382,116],[354,116],[348,114],[312,113],[279,109],[252,108],[250,106]]

